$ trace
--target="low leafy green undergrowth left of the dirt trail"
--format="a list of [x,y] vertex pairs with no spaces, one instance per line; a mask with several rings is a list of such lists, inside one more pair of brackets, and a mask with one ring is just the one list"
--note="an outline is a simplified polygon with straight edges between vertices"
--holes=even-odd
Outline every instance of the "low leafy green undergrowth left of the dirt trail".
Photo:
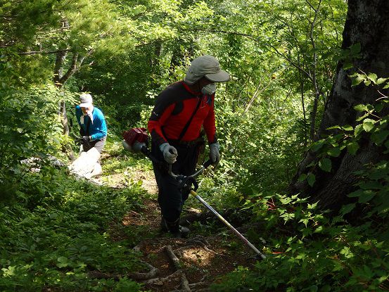
[[142,268],[134,243],[113,241],[109,232],[139,191],[113,191],[52,167],[24,174],[15,200],[0,205],[0,290],[141,291],[130,279],[88,277],[91,270],[126,274]]

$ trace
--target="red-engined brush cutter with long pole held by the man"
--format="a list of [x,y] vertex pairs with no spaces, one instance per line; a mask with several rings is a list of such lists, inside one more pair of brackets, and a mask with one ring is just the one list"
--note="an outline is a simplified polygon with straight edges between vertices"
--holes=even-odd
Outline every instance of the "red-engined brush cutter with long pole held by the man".
[[[154,163],[157,163],[158,165],[166,164],[165,162],[156,159],[151,154],[151,151],[148,150],[147,148],[148,134],[146,133],[145,128],[130,129],[129,131],[123,133],[123,137],[125,139],[122,141],[122,144],[126,150],[135,153],[139,153],[139,152],[144,153],[144,155],[146,155],[148,158],[150,158]],[[222,217],[222,215],[220,215],[214,208],[212,208],[207,202],[204,201],[203,198],[198,196],[198,194],[196,193],[196,190],[198,189],[198,183],[196,182],[196,177],[199,174],[201,174],[205,170],[205,168],[209,167],[211,164],[212,161],[208,160],[204,163],[203,167],[201,167],[195,173],[187,176],[181,174],[179,175],[174,174],[172,172],[172,165],[170,164],[168,172],[171,177],[174,177],[174,179],[177,180],[179,189],[190,188],[190,193],[192,196],[194,196],[198,201],[200,201],[200,203],[202,203],[205,206],[205,208],[210,210],[210,212],[212,212],[213,215],[215,215],[220,221],[222,221],[227,227],[229,227],[229,229],[231,229],[231,231],[233,231],[234,234],[236,234],[236,236],[238,236],[238,238],[241,239],[241,241],[243,241],[243,243],[245,243],[249,248],[254,250],[257,255],[256,258],[264,260],[266,256],[263,253],[261,253],[260,250],[258,250],[253,245],[253,243],[250,243],[250,241],[248,241],[248,239],[246,239],[245,236],[243,236],[238,230],[236,230],[227,220],[225,220]]]

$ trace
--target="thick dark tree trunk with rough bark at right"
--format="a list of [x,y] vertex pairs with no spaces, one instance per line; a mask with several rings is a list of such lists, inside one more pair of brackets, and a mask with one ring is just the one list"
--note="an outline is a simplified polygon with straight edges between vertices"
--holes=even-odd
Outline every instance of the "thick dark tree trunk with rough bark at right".
[[[378,77],[389,77],[389,1],[349,0],[342,48],[361,44],[361,58],[355,60],[354,69],[343,70],[343,61],[338,63],[336,78],[326,103],[321,125],[316,139],[329,134],[326,130],[334,125],[355,125],[357,112],[353,109],[359,103],[376,103],[381,97],[373,87],[360,84],[351,87],[349,77],[355,70],[374,72]],[[388,96],[388,91],[381,91]],[[386,113],[382,113],[388,114]],[[376,163],[382,157],[381,149],[369,141],[360,145],[357,155],[343,151],[338,158],[332,158],[331,173],[314,169],[317,179],[311,188],[307,182],[297,182],[300,174],[306,172],[307,165],[316,159],[315,153],[307,152],[299,165],[298,173],[290,186],[293,193],[311,196],[319,201],[321,208],[336,210],[347,202],[347,193],[353,191],[357,177],[354,172],[366,163]]]

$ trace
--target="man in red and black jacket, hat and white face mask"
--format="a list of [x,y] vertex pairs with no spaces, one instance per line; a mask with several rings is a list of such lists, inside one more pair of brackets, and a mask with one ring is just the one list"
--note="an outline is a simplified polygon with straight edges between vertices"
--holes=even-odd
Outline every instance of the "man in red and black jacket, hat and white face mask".
[[[151,133],[151,152],[156,158],[172,164],[174,174],[193,174],[198,160],[201,127],[210,147],[210,159],[220,159],[216,139],[214,99],[215,82],[227,82],[229,74],[220,69],[213,56],[194,59],[184,81],[176,82],[160,93],[148,121]],[[174,237],[185,237],[189,229],[179,225],[184,201],[189,189],[179,190],[177,181],[167,170],[153,164],[158,184],[158,203],[161,208],[161,227]]]

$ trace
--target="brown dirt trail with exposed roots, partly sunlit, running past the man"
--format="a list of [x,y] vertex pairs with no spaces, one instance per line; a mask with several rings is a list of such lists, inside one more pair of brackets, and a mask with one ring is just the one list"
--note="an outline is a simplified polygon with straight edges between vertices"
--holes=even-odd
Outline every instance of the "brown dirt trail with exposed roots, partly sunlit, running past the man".
[[[192,232],[188,239],[174,239],[170,234],[160,231],[158,188],[151,171],[114,173],[98,179],[98,182],[120,188],[139,180],[148,192],[145,197],[149,198],[144,200],[140,210],[132,210],[122,218],[122,226],[141,235],[134,249],[141,252],[141,259],[148,265],[145,272],[158,269],[158,272],[148,275],[148,279],[139,279],[145,284],[146,290],[209,291],[210,284],[217,281],[218,277],[238,266],[255,263],[250,258],[253,253],[227,227],[215,236],[205,237]],[[189,228],[195,229],[190,225]],[[126,236],[115,230],[115,227],[110,230],[110,234],[117,240],[125,239]]]

